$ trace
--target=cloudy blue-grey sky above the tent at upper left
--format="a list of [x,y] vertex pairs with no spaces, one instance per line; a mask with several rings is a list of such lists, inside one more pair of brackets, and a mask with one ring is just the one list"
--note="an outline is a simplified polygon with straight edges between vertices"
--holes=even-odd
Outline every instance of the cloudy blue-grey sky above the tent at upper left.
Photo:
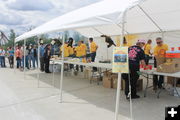
[[55,17],[101,0],[0,0],[0,30],[27,32]]

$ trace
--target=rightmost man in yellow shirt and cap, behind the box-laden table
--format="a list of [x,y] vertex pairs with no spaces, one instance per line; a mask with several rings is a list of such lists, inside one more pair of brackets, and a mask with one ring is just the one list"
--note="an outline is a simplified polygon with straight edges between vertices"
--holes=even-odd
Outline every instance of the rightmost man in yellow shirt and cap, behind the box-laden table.
[[[156,59],[158,58],[162,58],[165,57],[166,55],[166,51],[168,50],[168,45],[163,43],[163,39],[161,37],[156,38],[156,43],[157,45],[154,48],[154,67],[157,67],[157,62]],[[154,86],[154,90],[158,88],[162,89],[163,86],[162,84],[164,83],[164,76],[158,76],[154,75],[153,76],[153,86]]]

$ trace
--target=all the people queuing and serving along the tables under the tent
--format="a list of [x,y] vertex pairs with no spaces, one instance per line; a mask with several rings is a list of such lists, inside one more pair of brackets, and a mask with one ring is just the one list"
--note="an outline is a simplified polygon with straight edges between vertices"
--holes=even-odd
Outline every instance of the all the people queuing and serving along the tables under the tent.
[[[64,57],[73,57],[73,58],[86,58],[89,57],[91,62],[95,61],[96,52],[98,49],[98,45],[94,42],[93,38],[89,38],[89,52],[88,47],[84,43],[84,41],[79,41],[77,44],[73,44],[73,38],[69,38],[68,41],[65,42],[64,45],[59,47],[59,56],[64,53]],[[163,39],[158,37],[156,39],[156,46],[154,49],[152,48],[152,40],[138,40],[136,45],[128,46],[126,40],[124,40],[124,46],[129,47],[129,74],[123,74],[122,78],[125,80],[125,95],[128,99],[129,94],[129,82],[131,84],[132,98],[139,98],[136,91],[137,80],[139,79],[138,71],[140,70],[140,64],[146,66],[149,64],[149,60],[154,58],[154,67],[157,67],[157,59],[159,57],[165,57],[166,51],[168,50],[168,45],[164,44]],[[115,44],[114,44],[115,45]],[[24,51],[25,50],[25,51]],[[50,73],[49,64],[50,58],[53,54],[52,50],[53,45],[47,44],[44,45],[40,43],[39,53],[40,53],[40,70],[46,73]],[[63,52],[64,50],[64,52]],[[10,64],[10,68],[14,67],[14,55],[16,60],[16,66],[19,69],[23,69],[24,65],[27,69],[35,69],[38,67],[38,48],[36,45],[27,45],[25,46],[16,46],[15,51],[12,47],[9,47],[7,51],[5,51],[2,47],[0,47],[0,67],[6,67],[5,57],[7,56]],[[74,65],[69,65],[70,69],[76,69],[83,72],[83,66],[78,66],[74,68]],[[97,71],[96,67],[93,67],[93,71]],[[129,77],[130,76],[130,77]],[[130,79],[129,79],[130,78]],[[154,90],[157,88],[162,89],[164,82],[164,76],[153,76],[153,84]]]

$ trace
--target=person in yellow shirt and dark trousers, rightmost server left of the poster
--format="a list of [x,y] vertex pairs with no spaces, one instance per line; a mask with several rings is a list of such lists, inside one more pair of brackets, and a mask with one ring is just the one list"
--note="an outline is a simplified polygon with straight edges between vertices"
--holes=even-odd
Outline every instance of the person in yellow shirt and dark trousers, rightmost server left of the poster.
[[[96,51],[98,49],[98,46],[96,45],[96,43],[94,42],[93,38],[89,38],[89,42],[90,42],[90,54],[91,54],[91,61],[95,62],[96,59]],[[96,72],[97,68],[93,67],[93,72]]]

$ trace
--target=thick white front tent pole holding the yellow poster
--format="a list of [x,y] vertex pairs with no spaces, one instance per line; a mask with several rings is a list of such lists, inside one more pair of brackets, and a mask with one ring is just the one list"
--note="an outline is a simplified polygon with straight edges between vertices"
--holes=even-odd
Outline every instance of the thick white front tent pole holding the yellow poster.
[[[122,46],[122,43],[123,43],[124,24],[125,24],[125,12],[123,13],[123,17],[122,17],[122,33],[121,33],[121,45],[120,46]],[[116,92],[116,106],[115,106],[116,107],[115,108],[115,120],[118,120],[120,96],[121,96],[121,73],[118,73],[117,92]]]

